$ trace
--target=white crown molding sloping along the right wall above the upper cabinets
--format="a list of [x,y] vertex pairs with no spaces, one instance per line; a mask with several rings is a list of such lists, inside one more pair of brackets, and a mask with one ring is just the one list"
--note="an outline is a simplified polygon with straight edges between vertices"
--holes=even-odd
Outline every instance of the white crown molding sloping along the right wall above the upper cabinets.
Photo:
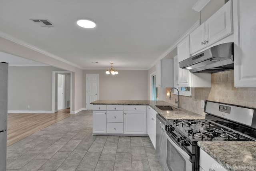
[[199,20],[190,29],[188,29],[178,40],[176,40],[176,42],[174,42],[174,44],[172,44],[172,46],[170,48],[168,48],[160,57],[158,57],[155,60],[155,62],[148,68],[148,70],[150,70],[150,68],[152,68],[154,65],[156,65],[156,63],[159,60],[161,60],[162,58],[166,57],[166,55],[168,55],[170,52],[172,52],[172,50],[174,50],[178,46],[180,41],[182,41],[184,38],[186,38],[198,26],[200,26],[200,21]]

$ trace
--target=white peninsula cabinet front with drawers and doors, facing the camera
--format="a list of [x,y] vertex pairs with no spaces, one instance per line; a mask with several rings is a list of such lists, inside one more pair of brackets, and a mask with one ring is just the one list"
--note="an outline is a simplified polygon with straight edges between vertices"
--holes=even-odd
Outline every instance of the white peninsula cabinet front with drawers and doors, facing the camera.
[[146,134],[146,105],[94,105],[94,135]]

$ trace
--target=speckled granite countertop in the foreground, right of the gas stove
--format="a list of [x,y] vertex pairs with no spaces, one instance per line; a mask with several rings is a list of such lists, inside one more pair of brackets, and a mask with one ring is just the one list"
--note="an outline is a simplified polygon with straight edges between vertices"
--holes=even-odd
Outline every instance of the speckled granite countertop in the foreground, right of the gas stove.
[[228,171],[256,170],[255,141],[198,141],[197,144]]

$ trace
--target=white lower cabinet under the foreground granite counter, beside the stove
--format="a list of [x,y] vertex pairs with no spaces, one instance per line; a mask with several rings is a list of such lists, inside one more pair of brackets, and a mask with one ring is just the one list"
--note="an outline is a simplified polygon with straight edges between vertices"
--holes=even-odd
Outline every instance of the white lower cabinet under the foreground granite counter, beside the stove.
[[227,171],[218,161],[214,160],[203,149],[200,149],[199,155],[200,171]]

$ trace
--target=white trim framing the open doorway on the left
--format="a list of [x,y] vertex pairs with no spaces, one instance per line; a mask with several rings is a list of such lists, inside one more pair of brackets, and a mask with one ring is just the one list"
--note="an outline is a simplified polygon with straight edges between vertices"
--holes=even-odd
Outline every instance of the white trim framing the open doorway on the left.
[[52,72],[52,113],[55,113],[58,111],[58,105],[57,105],[57,109],[55,109],[55,87],[57,86],[55,84],[55,80],[58,79],[58,77],[56,78],[55,75],[56,73],[70,73],[70,113],[74,112],[72,111],[72,72],[70,71],[53,71]]

